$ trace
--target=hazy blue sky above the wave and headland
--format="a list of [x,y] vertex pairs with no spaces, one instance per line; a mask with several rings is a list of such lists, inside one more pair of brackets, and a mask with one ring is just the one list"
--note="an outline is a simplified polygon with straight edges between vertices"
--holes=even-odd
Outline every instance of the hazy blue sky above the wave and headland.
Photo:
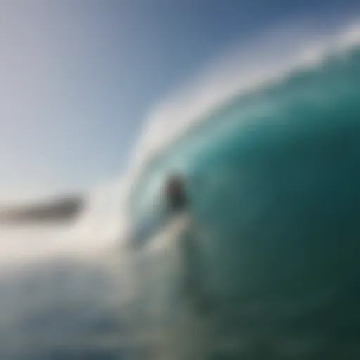
[[356,0],[0,0],[0,201],[120,176],[148,113],[212,59],[277,23],[356,14]]

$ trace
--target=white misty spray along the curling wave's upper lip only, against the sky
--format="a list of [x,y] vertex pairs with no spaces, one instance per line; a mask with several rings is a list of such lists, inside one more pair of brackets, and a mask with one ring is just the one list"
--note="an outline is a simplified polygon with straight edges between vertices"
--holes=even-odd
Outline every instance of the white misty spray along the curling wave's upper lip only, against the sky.
[[346,53],[359,44],[360,21],[356,20],[335,34],[307,34],[304,38],[301,31],[279,27],[254,39],[249,49],[245,46],[241,51],[231,51],[216,66],[205,68],[191,86],[153,109],[136,143],[129,179],[140,176],[156,154],[229,99],[281,82],[294,72],[321,66],[329,54]]

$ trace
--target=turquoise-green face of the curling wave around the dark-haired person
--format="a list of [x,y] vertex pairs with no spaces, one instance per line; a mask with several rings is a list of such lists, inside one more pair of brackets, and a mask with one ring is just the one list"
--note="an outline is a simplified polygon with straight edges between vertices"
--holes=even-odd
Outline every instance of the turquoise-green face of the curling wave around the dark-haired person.
[[148,324],[162,323],[155,358],[359,359],[359,84],[360,49],[332,53],[235,96],[144,169],[141,246],[173,221],[169,174],[190,198],[176,245],[138,267]]

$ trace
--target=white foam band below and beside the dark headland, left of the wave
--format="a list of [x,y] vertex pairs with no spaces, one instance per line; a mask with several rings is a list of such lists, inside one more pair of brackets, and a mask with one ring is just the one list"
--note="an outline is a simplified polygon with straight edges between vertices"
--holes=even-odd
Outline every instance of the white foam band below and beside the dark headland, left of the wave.
[[67,225],[0,226],[0,266],[44,257],[91,257],[111,248],[126,230],[122,181],[89,191],[82,214]]

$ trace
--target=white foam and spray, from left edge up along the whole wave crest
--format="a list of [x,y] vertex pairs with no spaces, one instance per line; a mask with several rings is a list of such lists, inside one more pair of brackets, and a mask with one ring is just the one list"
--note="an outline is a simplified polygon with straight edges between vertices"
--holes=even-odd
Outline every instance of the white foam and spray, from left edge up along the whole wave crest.
[[[45,249],[56,252],[72,251],[73,248],[86,252],[86,248],[106,247],[127,238],[131,231],[128,200],[136,193],[136,184],[146,179],[142,172],[156,155],[168,152],[167,149],[175,146],[176,139],[184,138],[197,124],[210,120],[217,109],[226,108],[234,98],[261,92],[271,83],[281,84],[291,73],[302,72],[311,66],[321,67],[328,53],[345,53],[360,39],[357,21],[332,34],[317,34],[319,30],[314,28],[304,34],[300,28],[303,27],[290,29],[287,26],[285,30],[278,27],[252,39],[243,49],[231,49],[229,54],[205,67],[184,89],[156,105],[146,118],[139,141],[129,157],[129,168],[122,171],[119,179],[104,181],[89,189],[84,198],[84,211],[70,226],[53,226],[51,231],[36,226],[30,231],[18,229],[15,232],[0,228],[1,238],[8,238],[6,249],[13,249],[13,255],[4,255],[4,261],[13,257],[23,259],[30,253],[35,255],[36,248],[43,255]],[[32,239],[30,242],[29,238]],[[39,240],[41,238],[44,240]],[[49,238],[53,240],[46,240]],[[39,245],[30,251],[28,243]],[[15,256],[16,252],[21,255]]]

